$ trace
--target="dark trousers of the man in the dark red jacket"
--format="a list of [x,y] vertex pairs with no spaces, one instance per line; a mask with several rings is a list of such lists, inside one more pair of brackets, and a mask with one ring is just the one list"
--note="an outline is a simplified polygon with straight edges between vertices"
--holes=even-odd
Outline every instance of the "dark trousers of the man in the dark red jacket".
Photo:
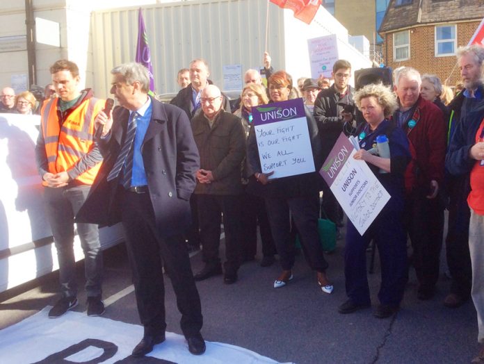
[[439,197],[414,190],[405,200],[404,222],[412,242],[412,263],[419,290],[433,290],[439,279],[440,249],[444,235],[444,207]]

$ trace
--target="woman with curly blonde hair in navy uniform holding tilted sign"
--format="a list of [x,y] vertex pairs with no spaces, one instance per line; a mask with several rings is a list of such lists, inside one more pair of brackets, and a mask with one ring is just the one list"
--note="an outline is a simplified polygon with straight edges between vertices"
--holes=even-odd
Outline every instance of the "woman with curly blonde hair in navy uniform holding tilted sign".
[[[373,315],[385,318],[398,311],[408,281],[407,238],[402,211],[403,175],[410,161],[410,149],[402,129],[387,119],[397,108],[395,96],[389,88],[381,84],[366,85],[356,92],[355,104],[362,111],[366,123],[357,129],[360,150],[354,158],[368,163],[390,199],[363,235],[348,220],[344,252],[348,300],[339,306],[339,313],[352,313],[371,304],[366,277],[366,248],[373,240],[378,247],[382,274],[378,292],[380,304]],[[389,158],[375,154],[377,142],[385,140],[389,143]]]

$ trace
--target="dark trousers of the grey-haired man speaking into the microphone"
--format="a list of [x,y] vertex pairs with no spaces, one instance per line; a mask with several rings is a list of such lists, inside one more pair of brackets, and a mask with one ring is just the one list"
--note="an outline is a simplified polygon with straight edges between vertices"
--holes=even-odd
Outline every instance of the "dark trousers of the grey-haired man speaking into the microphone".
[[161,238],[149,193],[120,188],[120,195],[136,303],[145,334],[164,333],[166,329],[164,263],[177,297],[181,331],[186,338],[195,336],[202,329],[202,308],[183,235]]

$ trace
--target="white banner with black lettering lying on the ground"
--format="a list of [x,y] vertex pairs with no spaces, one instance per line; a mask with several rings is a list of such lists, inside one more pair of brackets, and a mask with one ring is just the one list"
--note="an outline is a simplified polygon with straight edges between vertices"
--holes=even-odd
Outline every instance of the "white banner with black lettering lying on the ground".
[[[47,316],[50,307],[0,331],[0,363],[140,363],[131,350],[143,336],[143,327],[70,311],[58,319]],[[166,333],[143,363],[275,364],[254,351],[220,342],[207,342],[201,356],[188,352],[183,336]]]

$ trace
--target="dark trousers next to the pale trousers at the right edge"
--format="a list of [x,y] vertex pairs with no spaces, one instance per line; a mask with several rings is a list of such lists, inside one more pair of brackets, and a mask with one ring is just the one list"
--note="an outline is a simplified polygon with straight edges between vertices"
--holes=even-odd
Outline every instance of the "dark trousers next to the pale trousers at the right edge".
[[446,258],[451,272],[451,293],[462,299],[471,296],[472,269],[469,253],[469,221],[471,210],[467,197],[462,196],[462,190],[455,191],[449,204],[449,228],[445,240]]

